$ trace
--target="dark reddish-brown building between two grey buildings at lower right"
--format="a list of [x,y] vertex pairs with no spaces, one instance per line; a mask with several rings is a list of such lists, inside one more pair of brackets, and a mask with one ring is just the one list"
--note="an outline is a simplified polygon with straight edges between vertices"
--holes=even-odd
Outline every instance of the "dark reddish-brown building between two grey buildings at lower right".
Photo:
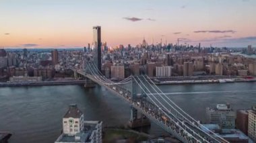
[[238,109],[236,111],[236,128],[248,135],[248,110]]

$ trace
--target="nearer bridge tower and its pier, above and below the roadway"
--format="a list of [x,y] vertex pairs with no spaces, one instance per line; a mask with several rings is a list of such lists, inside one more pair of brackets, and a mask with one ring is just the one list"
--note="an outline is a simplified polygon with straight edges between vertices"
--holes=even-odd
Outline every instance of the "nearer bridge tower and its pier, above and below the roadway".
[[[140,95],[137,95],[139,93],[139,90],[137,89],[137,83],[134,79],[131,80],[131,99],[135,101],[138,105],[141,105],[143,103],[143,100],[146,100],[146,94],[141,93]],[[129,120],[129,126],[130,128],[139,128],[143,126],[150,126],[150,120],[148,118],[141,114],[140,117],[138,117],[138,111],[135,109],[135,107],[131,106],[131,116]]]

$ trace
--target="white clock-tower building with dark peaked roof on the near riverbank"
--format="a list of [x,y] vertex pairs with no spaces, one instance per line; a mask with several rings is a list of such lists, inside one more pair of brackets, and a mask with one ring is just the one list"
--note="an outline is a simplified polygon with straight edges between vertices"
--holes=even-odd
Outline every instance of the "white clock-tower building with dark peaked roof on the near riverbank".
[[55,143],[101,143],[102,122],[84,121],[84,113],[77,105],[69,105],[63,117],[63,134]]

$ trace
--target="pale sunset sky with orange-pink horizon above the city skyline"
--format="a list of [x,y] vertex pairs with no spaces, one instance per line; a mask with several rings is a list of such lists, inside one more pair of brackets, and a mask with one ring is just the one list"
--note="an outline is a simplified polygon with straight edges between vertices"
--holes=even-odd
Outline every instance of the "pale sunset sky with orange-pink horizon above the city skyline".
[[0,46],[79,48],[92,43],[92,27],[102,27],[108,46],[135,46],[183,38],[190,45],[256,46],[256,1],[110,0],[0,1]]

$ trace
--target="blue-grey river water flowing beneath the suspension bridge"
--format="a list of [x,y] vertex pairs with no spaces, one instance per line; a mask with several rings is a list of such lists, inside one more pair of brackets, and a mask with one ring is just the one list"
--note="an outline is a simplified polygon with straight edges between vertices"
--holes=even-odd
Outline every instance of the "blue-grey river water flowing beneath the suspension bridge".
[[[256,83],[161,85],[182,109],[205,121],[205,108],[230,103],[233,109],[256,104]],[[79,85],[0,88],[0,132],[13,133],[9,142],[55,142],[61,134],[62,117],[75,103],[86,120],[102,120],[104,126],[122,126],[129,120],[129,105],[103,87]],[[150,134],[166,134],[152,124]]]

